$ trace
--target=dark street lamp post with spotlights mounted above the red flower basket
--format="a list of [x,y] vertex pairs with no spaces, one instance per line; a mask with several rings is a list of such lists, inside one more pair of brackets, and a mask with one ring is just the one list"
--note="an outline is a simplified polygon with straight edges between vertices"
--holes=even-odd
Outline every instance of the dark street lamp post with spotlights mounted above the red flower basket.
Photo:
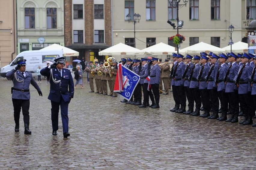
[[[177,34],[179,33],[179,28],[182,28],[183,26],[183,21],[179,21],[179,8],[183,7],[183,6],[187,6],[187,2],[188,0],[183,0],[184,4],[179,4],[181,0],[168,0],[170,6],[174,7],[177,9]],[[172,2],[175,2],[175,4],[172,4]],[[167,21],[172,27],[173,29],[175,29],[175,25],[173,22],[170,22],[169,20]],[[177,45],[177,53],[179,53],[179,45]]]

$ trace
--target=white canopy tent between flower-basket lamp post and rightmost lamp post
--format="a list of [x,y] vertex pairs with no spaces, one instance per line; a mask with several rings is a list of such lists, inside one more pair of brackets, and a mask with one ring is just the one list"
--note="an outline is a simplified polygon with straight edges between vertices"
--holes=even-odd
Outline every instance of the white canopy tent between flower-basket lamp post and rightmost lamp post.
[[225,52],[225,50],[223,50],[221,48],[215,47],[213,45],[210,45],[210,44],[207,44],[207,43],[204,43],[204,42],[200,42],[200,43],[197,43],[195,45],[191,45],[189,47],[183,48],[182,50],[185,51],[186,54],[190,54],[190,55],[198,55],[202,51],[204,51],[204,52],[205,51],[209,51],[209,52],[212,51],[215,54]]

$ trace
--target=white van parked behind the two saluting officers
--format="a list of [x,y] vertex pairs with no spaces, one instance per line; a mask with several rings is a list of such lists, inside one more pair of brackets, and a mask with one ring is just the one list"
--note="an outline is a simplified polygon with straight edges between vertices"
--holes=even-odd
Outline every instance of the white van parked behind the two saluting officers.
[[19,53],[10,64],[1,68],[0,75],[6,77],[6,73],[14,69],[17,65],[17,61],[26,59],[26,71],[30,71],[33,76],[37,76],[36,70],[40,65],[41,68],[46,67],[47,63],[50,65],[53,60],[63,56],[63,50],[33,50],[23,51]]

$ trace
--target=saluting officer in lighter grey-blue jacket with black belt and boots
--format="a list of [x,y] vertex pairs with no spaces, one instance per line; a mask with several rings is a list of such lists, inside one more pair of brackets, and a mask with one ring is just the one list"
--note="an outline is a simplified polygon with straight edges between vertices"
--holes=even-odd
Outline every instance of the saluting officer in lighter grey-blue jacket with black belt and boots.
[[43,96],[39,86],[33,79],[32,73],[26,71],[26,60],[19,60],[15,69],[6,73],[8,79],[12,79],[13,88],[12,103],[14,108],[15,132],[20,131],[20,110],[22,108],[23,121],[25,126],[24,134],[31,134],[29,130],[29,85],[32,84],[38,91],[39,96]]

